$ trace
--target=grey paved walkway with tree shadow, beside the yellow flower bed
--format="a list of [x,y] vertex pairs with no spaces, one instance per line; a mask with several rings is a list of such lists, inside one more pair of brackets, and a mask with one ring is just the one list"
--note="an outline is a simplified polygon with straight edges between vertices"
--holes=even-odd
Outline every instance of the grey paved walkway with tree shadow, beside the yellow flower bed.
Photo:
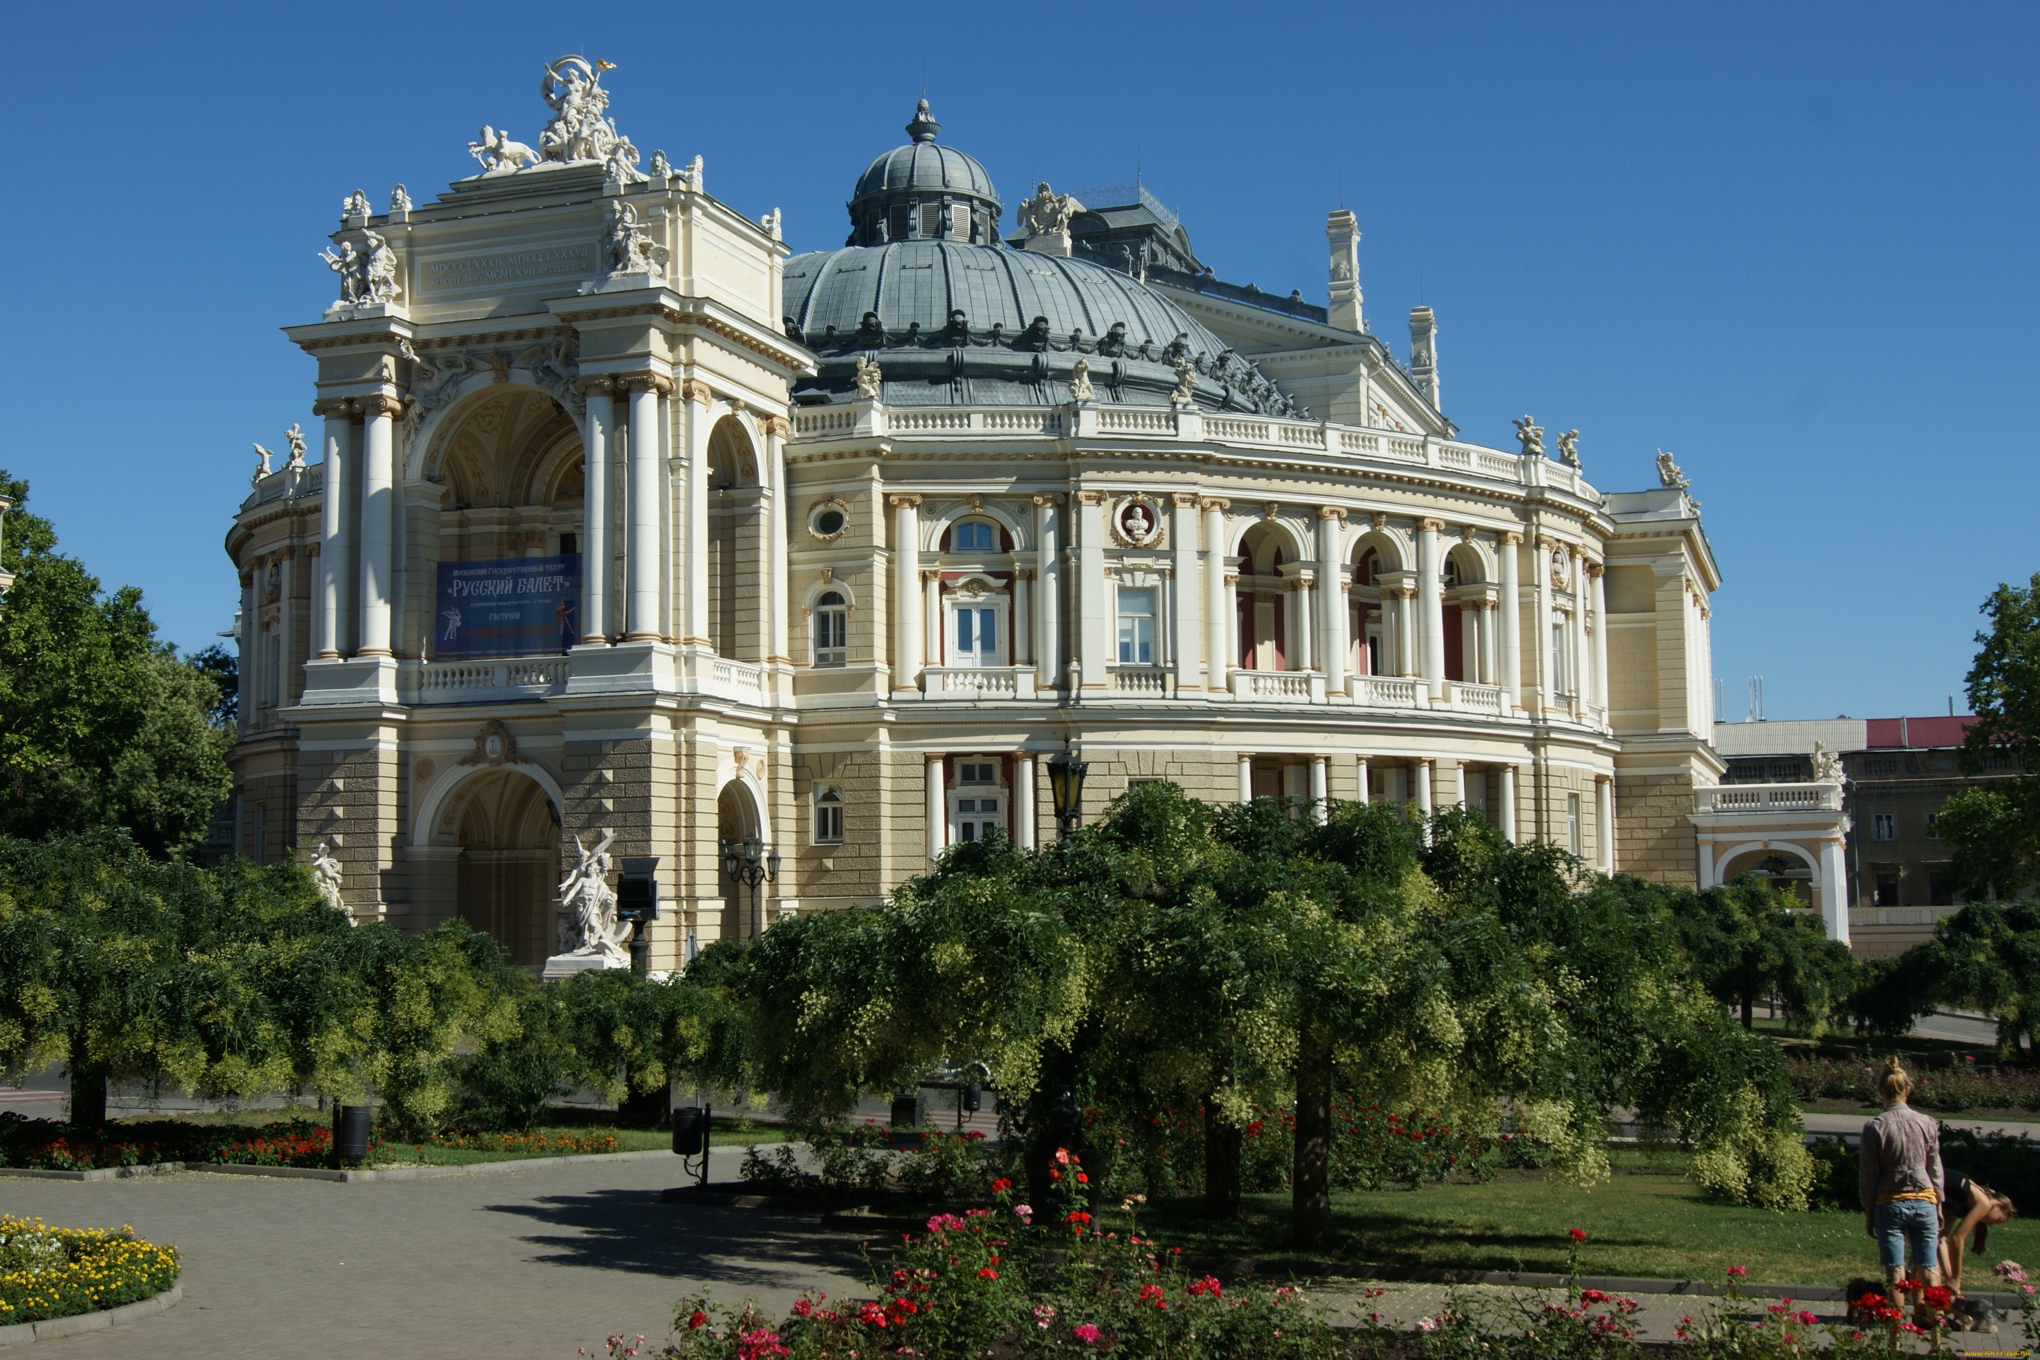
[[[736,1179],[718,1148],[710,1179]],[[851,1234],[812,1219],[661,1205],[677,1158],[335,1185],[269,1176],[0,1181],[0,1209],[133,1223],[184,1252],[184,1303],[69,1338],[63,1360],[430,1354],[571,1360],[608,1331],[663,1338],[698,1287],[783,1311],[857,1289]],[[55,1354],[55,1352],[53,1352]]]

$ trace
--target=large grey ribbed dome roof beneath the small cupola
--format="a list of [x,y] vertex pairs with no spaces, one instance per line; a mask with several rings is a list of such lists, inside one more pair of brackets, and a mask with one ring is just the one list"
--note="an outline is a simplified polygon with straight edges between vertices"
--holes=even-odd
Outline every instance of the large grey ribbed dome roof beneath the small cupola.
[[[975,161],[973,161],[975,163]],[[898,241],[785,261],[785,330],[822,357],[802,402],[847,402],[859,357],[900,406],[1069,400],[1077,359],[1104,402],[1167,406],[1177,359],[1208,410],[1285,414],[1275,385],[1183,308],[1104,265],[1002,245]]]

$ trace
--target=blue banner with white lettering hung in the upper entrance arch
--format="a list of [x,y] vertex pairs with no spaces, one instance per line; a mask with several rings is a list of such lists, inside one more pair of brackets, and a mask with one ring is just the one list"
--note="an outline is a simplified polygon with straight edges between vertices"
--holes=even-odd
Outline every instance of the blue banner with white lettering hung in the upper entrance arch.
[[581,632],[581,555],[439,563],[432,659],[545,657]]

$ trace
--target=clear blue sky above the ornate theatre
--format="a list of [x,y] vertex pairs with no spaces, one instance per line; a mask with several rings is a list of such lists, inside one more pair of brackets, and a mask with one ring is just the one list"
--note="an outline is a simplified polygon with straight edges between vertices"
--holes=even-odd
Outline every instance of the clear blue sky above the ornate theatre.
[[[561,18],[561,14],[567,14]],[[37,512],[192,648],[251,440],[310,418],[341,198],[428,200],[539,65],[618,63],[618,126],[794,249],[926,84],[1012,206],[1138,165],[1220,277],[1324,300],[1359,214],[1446,414],[1581,430],[1603,489],[1671,449],[1726,575],[1728,718],[1934,714],[1997,581],[2040,569],[2032,6],[10,6],[0,328]]]

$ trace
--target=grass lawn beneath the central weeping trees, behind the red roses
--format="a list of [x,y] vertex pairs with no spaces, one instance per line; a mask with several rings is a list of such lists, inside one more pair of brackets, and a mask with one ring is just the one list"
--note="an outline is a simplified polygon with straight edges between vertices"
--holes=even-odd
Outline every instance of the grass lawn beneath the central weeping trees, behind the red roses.
[[[1246,1221],[1208,1223],[1200,1201],[1169,1201],[1140,1211],[1142,1232],[1204,1258],[1251,1256],[1302,1262],[1289,1250],[1289,1197],[1248,1195]],[[1116,1209],[1100,1219],[1122,1225]],[[1858,1213],[1769,1213],[1707,1203],[1683,1174],[1618,1174],[1591,1189],[1503,1172],[1487,1185],[1432,1185],[1332,1197],[1334,1244],[1314,1258],[1350,1264],[1455,1270],[1561,1272],[1567,1230],[1587,1244],[1583,1274],[1714,1278],[1748,1266],[1752,1283],[1842,1285],[1875,1276],[1877,1248]],[[2040,1223],[2013,1219],[1991,1230],[1989,1260],[2040,1260]],[[1989,1264],[1983,1266],[1989,1272]],[[1977,1280],[1969,1280],[1971,1289]]]

